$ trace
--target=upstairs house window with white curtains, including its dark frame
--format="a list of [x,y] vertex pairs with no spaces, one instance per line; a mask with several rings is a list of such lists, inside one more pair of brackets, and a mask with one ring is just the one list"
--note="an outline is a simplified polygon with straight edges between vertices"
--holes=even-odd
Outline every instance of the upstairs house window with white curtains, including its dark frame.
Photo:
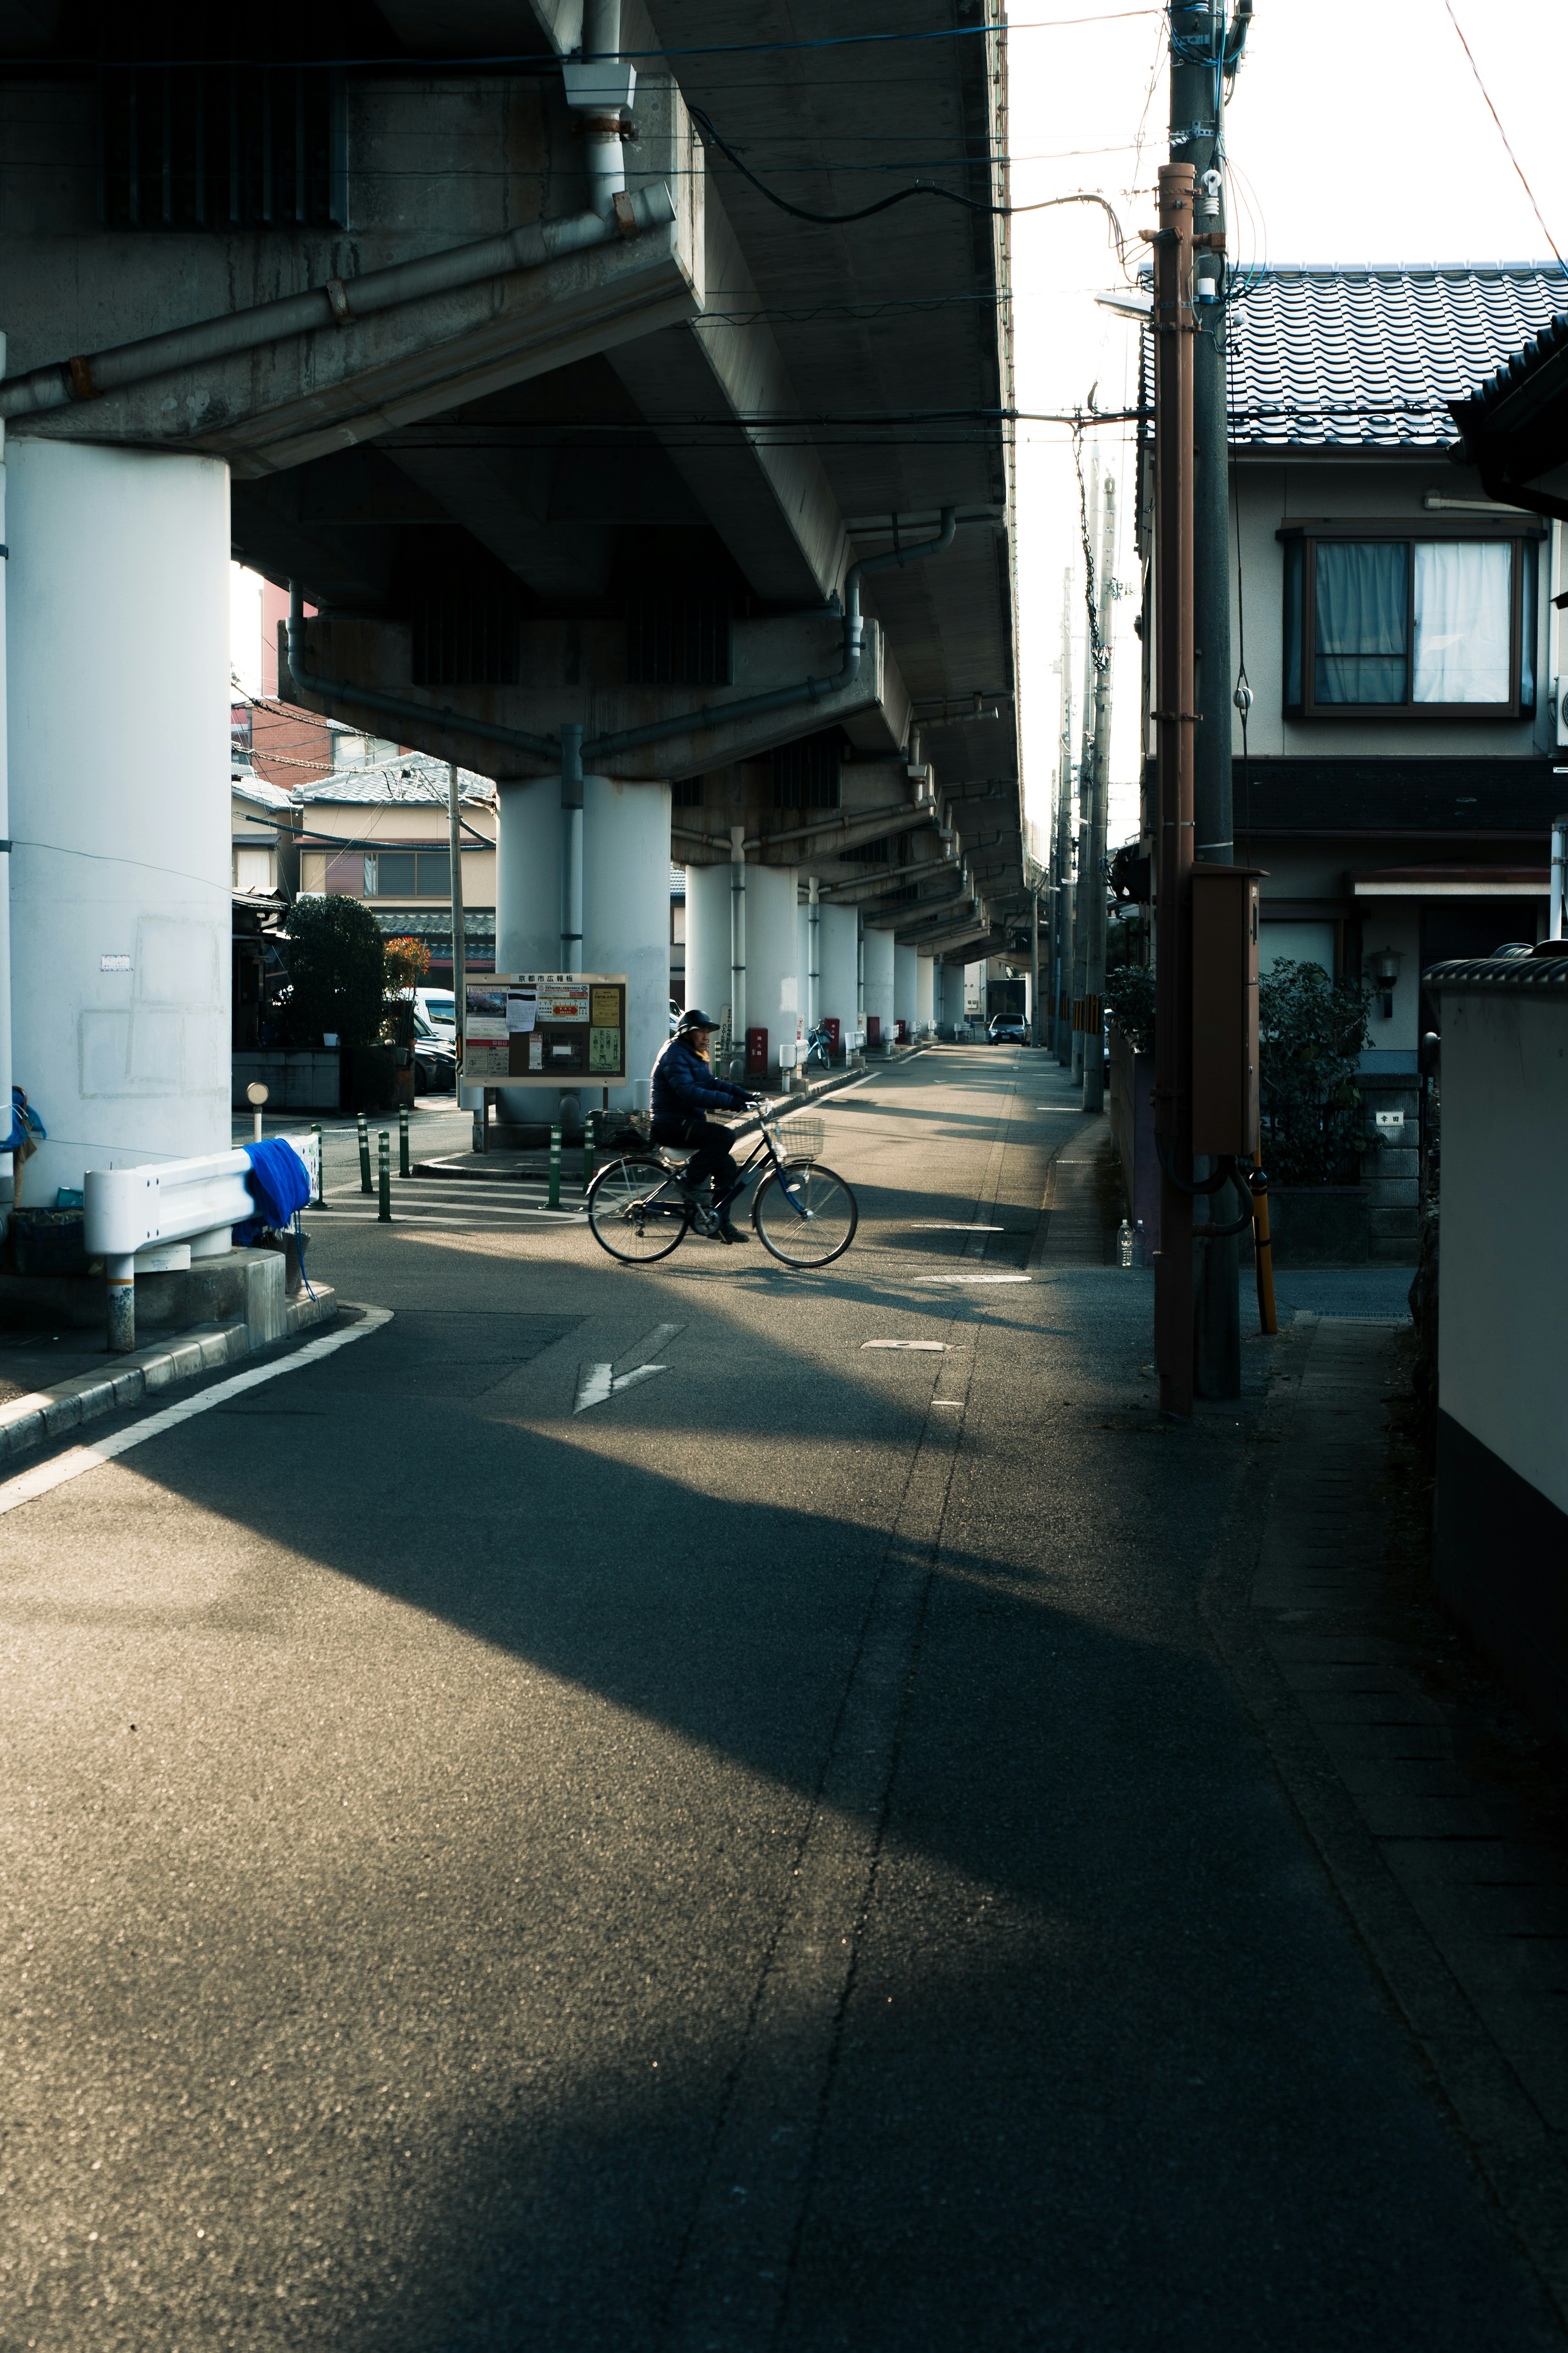
[[1281,532],[1288,718],[1535,708],[1535,536]]

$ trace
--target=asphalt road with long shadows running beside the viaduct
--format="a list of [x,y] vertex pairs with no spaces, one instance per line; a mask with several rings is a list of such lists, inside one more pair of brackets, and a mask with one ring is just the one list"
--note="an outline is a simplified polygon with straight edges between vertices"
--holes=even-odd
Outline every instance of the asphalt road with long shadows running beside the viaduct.
[[1056,1068],[825,1118],[820,1275],[327,1214],[390,1322],[0,1520],[5,2353],[1561,2344],[1201,1631],[1255,1405],[1018,1280]]

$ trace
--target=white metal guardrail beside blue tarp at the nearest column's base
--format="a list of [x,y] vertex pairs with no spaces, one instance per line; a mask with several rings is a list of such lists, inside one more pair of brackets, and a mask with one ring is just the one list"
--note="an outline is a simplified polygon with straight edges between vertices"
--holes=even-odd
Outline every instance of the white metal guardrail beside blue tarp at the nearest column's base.
[[[315,1136],[292,1144],[315,1191]],[[132,1169],[87,1169],[82,1205],[89,1259],[103,1259],[108,1282],[108,1346],[136,1346],[136,1275],[181,1273],[193,1259],[221,1259],[233,1228],[256,1217],[242,1151],[202,1160],[148,1160]]]

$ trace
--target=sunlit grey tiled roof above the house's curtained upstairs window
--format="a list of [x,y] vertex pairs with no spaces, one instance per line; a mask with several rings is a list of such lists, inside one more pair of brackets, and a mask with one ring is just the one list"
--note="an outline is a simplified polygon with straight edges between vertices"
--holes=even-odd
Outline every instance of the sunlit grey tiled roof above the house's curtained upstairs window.
[[[1568,311],[1552,261],[1265,268],[1232,304],[1234,449],[1446,449],[1448,402]],[[1145,398],[1150,336],[1143,336]]]

